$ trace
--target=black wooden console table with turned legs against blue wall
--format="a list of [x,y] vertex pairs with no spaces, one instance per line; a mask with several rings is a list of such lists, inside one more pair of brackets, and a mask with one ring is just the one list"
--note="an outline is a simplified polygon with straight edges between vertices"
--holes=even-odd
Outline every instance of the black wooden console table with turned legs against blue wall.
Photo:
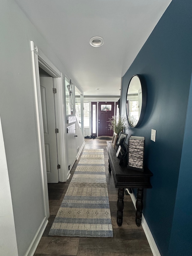
[[123,223],[125,188],[137,188],[135,222],[137,226],[140,226],[143,210],[143,188],[152,188],[150,177],[153,176],[153,174],[147,167],[141,172],[128,169],[127,166],[120,166],[120,159],[117,158],[116,150],[111,146],[111,142],[109,141],[107,141],[107,151],[109,155],[109,172],[112,171],[115,187],[118,188],[117,224],[121,226]]

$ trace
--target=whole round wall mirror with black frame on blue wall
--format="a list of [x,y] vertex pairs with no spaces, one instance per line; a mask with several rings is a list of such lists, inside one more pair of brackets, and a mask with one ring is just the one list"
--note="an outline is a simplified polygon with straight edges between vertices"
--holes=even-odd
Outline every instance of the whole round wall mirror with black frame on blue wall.
[[131,127],[138,127],[144,117],[146,107],[146,90],[140,75],[134,75],[127,89],[126,112]]

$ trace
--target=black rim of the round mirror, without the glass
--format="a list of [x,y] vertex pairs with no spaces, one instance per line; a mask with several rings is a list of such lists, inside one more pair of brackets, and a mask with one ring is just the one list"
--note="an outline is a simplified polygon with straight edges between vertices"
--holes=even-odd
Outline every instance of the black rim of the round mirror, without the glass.
[[[140,84],[141,84],[141,91],[142,91],[142,106],[141,106],[141,113],[140,113],[140,117],[139,117],[139,120],[137,122],[137,124],[135,126],[131,126],[130,123],[129,123],[129,119],[128,119],[128,113],[127,113],[127,107],[126,107],[126,114],[127,114],[127,120],[128,120],[128,124],[131,128],[137,128],[140,126],[140,124],[142,123],[143,121],[143,118],[145,116],[145,111],[146,111],[146,104],[147,104],[147,90],[146,90],[146,84],[145,84],[145,80],[144,78],[139,75],[139,74],[135,74],[131,77],[130,81],[129,81],[129,84],[128,84],[128,88],[127,88],[127,94],[128,94],[128,89],[129,89],[129,85],[131,83],[131,80],[134,76],[137,76],[140,80]],[[127,94],[126,94],[126,104],[127,104]]]

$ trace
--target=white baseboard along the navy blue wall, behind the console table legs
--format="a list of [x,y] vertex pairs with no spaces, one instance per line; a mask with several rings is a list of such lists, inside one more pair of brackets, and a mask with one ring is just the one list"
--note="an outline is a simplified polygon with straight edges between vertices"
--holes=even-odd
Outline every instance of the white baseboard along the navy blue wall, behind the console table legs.
[[[136,203],[136,197],[135,197],[134,193],[132,193],[130,196],[131,196],[131,199],[132,199],[133,204],[134,204],[135,209],[136,209],[136,205],[135,205],[135,203]],[[150,231],[150,229],[149,229],[149,226],[148,226],[148,224],[147,224],[147,221],[146,221],[145,217],[143,216],[143,214],[142,214],[142,222],[141,222],[141,225],[142,225],[142,227],[143,227],[143,230],[144,230],[144,232],[145,232],[145,235],[146,235],[146,237],[147,237],[147,240],[148,240],[148,242],[149,242],[149,246],[150,246],[150,248],[151,248],[151,250],[152,250],[153,255],[154,255],[154,256],[161,256],[161,254],[160,254],[160,252],[159,252],[159,250],[158,250],[158,247],[157,247],[157,245],[156,245],[156,243],[155,243],[155,240],[154,240],[154,238],[153,238],[153,236],[152,236],[152,233],[151,233],[151,231]]]

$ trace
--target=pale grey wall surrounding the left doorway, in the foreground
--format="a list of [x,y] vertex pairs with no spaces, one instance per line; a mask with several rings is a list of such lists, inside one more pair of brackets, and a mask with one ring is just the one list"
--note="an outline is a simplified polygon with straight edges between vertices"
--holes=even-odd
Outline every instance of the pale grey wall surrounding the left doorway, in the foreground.
[[70,74],[14,0],[1,0],[0,24],[0,116],[18,254],[24,256],[45,217],[30,41],[64,75]]

